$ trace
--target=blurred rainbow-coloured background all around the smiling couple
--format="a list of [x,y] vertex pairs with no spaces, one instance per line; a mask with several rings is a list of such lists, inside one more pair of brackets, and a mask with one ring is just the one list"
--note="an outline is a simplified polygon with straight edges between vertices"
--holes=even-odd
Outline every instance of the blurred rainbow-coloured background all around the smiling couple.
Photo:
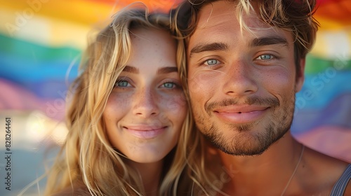
[[[143,2],[151,10],[168,10],[180,1]],[[0,195],[18,195],[50,166],[67,134],[65,97],[88,35],[132,2],[0,0]],[[321,27],[307,56],[292,132],[306,146],[351,162],[351,1],[317,2]],[[44,184],[34,183],[24,195],[42,194]]]

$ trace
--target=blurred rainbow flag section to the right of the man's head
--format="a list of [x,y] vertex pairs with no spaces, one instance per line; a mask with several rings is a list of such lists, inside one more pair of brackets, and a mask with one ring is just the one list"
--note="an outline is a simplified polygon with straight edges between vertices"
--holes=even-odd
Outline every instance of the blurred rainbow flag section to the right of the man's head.
[[351,161],[351,2],[321,0],[291,131],[306,146]]

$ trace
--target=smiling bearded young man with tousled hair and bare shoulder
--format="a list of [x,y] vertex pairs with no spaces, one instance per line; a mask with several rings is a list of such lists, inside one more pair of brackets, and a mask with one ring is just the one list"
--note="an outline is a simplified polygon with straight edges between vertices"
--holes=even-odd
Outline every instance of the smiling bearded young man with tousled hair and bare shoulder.
[[192,0],[178,8],[194,119],[230,171],[228,195],[351,195],[349,163],[290,133],[318,26],[314,4]]

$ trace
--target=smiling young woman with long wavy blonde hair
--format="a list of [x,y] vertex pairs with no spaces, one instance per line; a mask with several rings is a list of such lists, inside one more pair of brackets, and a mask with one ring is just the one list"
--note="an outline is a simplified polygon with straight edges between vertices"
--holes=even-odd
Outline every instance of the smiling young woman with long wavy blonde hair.
[[88,45],[45,195],[191,195],[212,187],[178,74],[183,42],[171,34],[169,16],[128,8]]

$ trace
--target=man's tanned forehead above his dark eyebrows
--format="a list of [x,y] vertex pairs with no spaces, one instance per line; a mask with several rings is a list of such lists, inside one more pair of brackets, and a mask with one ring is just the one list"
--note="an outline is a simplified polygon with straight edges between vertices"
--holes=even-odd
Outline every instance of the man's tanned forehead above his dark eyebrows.
[[228,48],[232,48],[234,46],[231,43],[234,41],[235,45],[241,43],[241,47],[249,47],[262,45],[254,44],[256,41],[263,40],[267,43],[267,38],[273,37],[285,39],[289,44],[293,43],[290,31],[267,25],[252,9],[250,13],[243,10],[243,24],[240,24],[237,13],[237,4],[229,1],[216,1],[201,8],[194,34],[187,40],[188,55],[191,51],[197,51],[200,46],[213,43],[224,43]]

